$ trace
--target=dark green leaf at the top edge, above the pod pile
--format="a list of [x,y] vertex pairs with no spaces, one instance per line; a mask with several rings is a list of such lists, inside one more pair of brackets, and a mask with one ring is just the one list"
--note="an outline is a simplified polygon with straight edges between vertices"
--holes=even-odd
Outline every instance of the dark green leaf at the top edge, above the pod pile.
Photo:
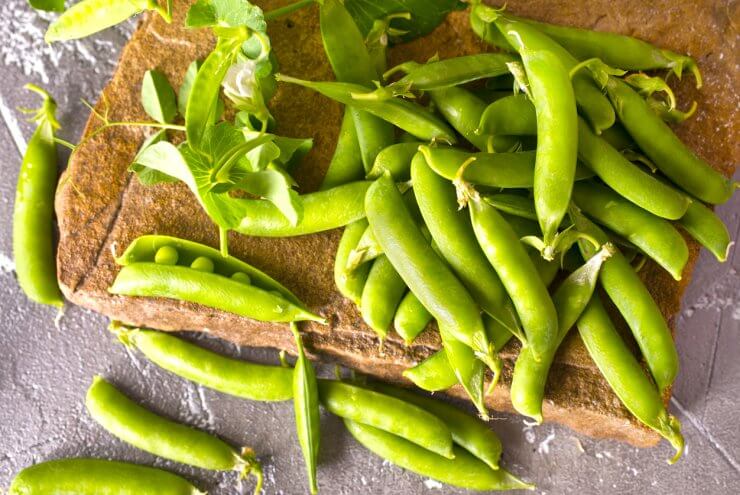
[[459,0],[345,0],[344,6],[363,36],[368,35],[376,19],[389,14],[410,13],[411,20],[397,19],[392,23],[394,29],[405,31],[399,36],[404,42],[431,33],[447,14],[465,8]]

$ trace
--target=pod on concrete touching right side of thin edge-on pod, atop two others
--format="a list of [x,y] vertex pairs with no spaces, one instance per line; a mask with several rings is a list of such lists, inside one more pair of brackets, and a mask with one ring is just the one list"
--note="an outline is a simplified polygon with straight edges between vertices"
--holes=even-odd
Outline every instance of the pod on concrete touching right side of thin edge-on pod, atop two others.
[[321,380],[319,392],[327,410],[341,418],[405,438],[442,457],[454,457],[450,429],[423,407],[336,380]]

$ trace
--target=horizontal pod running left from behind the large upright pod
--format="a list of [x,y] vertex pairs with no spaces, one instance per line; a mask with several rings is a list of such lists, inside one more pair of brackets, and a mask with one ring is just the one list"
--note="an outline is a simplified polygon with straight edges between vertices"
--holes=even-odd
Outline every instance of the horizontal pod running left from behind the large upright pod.
[[[501,189],[532,188],[534,186],[534,151],[514,153],[470,153],[448,146],[420,147],[429,167],[445,179],[455,180],[463,163],[470,162],[462,172],[465,182]],[[593,177],[585,167],[576,168],[576,180]]]

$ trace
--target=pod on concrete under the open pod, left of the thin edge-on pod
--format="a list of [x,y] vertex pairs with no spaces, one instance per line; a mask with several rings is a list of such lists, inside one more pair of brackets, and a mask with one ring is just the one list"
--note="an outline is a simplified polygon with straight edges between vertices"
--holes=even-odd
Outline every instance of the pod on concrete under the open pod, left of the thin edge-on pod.
[[151,362],[177,376],[242,399],[282,401],[293,397],[293,371],[232,359],[174,335],[111,324],[126,346],[139,349]]

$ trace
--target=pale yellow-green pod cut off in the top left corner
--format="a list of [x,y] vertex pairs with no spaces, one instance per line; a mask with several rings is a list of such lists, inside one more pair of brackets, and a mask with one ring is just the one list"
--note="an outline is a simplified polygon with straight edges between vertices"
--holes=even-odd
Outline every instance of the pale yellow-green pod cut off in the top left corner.
[[84,38],[145,10],[158,11],[167,22],[171,20],[169,13],[159,6],[157,0],[126,0],[116,2],[115,6],[111,0],[82,0],[49,25],[44,40],[52,43]]

